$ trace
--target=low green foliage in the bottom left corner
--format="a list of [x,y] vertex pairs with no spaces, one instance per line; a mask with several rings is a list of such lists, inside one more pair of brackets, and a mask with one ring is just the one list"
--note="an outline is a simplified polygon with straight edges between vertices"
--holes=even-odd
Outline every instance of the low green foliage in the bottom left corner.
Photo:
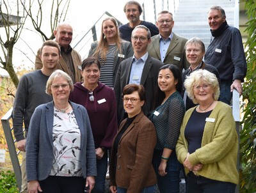
[[0,192],[19,192],[15,174],[11,171],[0,171]]

